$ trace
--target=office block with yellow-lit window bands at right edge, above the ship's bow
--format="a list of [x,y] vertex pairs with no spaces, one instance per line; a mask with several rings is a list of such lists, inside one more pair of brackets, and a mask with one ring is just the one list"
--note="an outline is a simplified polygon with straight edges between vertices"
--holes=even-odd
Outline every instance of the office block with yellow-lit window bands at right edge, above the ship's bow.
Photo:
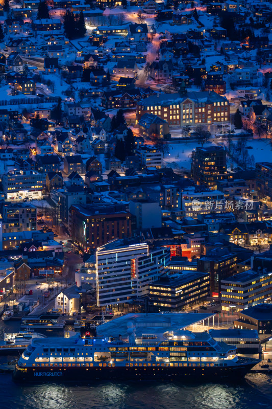
[[243,310],[271,296],[272,272],[267,269],[243,271],[221,281],[222,310]]

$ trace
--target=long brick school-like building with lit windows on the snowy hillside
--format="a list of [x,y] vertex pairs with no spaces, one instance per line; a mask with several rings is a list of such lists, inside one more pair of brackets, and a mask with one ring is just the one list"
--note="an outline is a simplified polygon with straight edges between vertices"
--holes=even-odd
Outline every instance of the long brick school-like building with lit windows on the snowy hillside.
[[144,113],[153,113],[170,127],[229,122],[230,103],[215,92],[188,92],[150,96],[136,104],[136,123]]

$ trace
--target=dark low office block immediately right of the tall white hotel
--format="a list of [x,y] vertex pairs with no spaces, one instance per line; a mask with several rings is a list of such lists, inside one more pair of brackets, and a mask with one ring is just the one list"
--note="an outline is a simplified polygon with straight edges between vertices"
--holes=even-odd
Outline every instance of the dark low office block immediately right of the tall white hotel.
[[150,303],[160,310],[181,310],[205,299],[210,292],[207,272],[183,270],[182,274],[161,277],[149,285]]

